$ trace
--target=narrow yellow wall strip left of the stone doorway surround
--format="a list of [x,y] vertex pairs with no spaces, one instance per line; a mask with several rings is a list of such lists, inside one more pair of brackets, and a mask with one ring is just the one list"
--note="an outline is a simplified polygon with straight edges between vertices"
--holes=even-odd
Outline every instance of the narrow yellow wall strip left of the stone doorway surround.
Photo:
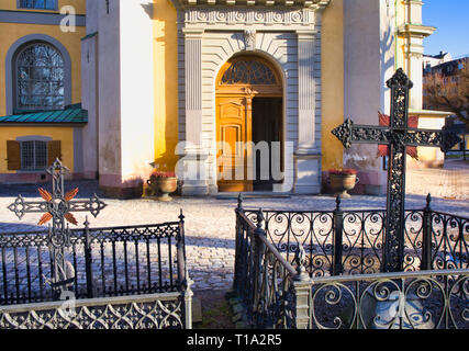
[[154,0],[155,163],[174,171],[178,156],[177,14],[169,0]]

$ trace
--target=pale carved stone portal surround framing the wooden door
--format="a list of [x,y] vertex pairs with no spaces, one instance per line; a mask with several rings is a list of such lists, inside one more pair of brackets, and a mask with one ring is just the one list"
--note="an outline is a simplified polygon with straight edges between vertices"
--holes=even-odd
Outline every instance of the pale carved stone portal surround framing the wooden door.
[[177,8],[178,125],[183,144],[178,165],[183,170],[183,195],[223,191],[217,181],[216,78],[230,59],[242,56],[266,58],[281,75],[284,170],[283,181],[272,191],[320,192],[321,31],[316,24],[323,8],[221,8],[197,1]]

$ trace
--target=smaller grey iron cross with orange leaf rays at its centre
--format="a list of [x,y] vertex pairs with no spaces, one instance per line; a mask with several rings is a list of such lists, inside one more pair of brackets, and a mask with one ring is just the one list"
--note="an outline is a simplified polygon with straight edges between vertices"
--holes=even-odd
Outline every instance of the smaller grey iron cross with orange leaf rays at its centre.
[[55,298],[66,290],[66,286],[74,282],[75,272],[70,272],[69,264],[65,259],[65,248],[70,245],[70,229],[66,220],[77,225],[72,212],[90,212],[94,217],[107,205],[94,194],[89,201],[72,200],[77,193],[78,188],[65,193],[64,174],[68,171],[59,159],[46,169],[46,172],[52,176],[52,194],[40,188],[38,192],[44,199],[42,202],[26,202],[23,196],[19,195],[18,199],[8,206],[8,208],[18,216],[23,218],[26,213],[44,213],[41,217],[38,225],[43,225],[52,219],[52,227],[49,225],[48,242],[52,249],[54,272],[52,276],[52,285]]

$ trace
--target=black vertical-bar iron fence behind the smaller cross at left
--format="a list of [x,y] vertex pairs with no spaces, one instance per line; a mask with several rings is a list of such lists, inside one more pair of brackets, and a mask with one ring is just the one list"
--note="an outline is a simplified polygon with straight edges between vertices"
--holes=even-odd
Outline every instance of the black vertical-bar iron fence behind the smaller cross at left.
[[[68,291],[76,298],[177,292],[186,280],[183,217],[70,230]],[[0,305],[54,299],[48,231],[0,234]]]

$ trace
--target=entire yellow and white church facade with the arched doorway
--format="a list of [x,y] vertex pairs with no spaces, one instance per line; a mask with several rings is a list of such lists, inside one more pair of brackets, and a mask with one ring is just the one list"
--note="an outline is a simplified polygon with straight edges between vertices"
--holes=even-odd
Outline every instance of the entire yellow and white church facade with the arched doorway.
[[[75,178],[99,178],[120,197],[138,195],[155,168],[176,171],[183,195],[314,194],[327,170],[343,167],[360,171],[362,192],[380,193],[377,147],[345,151],[331,131],[349,116],[378,124],[398,67],[421,94],[422,39],[434,30],[421,24],[422,4],[5,0],[0,182],[41,179],[23,160],[34,141],[42,163],[59,155]],[[21,78],[34,45],[59,57],[47,65],[63,72],[41,103],[37,82]],[[264,174],[266,165],[277,172]]]

